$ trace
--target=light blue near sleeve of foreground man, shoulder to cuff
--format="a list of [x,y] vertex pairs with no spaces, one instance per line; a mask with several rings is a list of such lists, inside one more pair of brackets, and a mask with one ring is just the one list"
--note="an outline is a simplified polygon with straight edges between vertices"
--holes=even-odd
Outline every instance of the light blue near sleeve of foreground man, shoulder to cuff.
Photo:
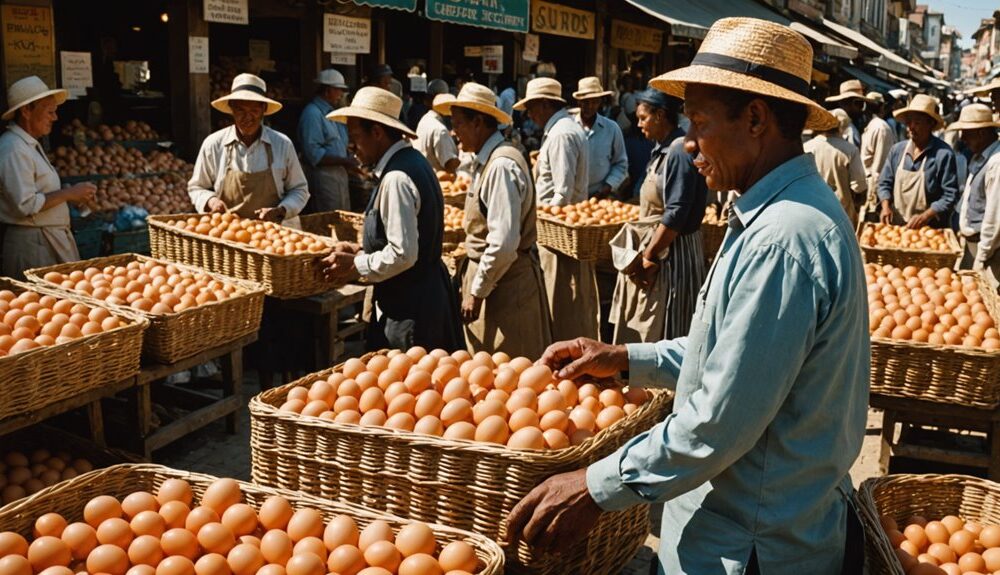
[[[774,245],[748,254],[729,286],[718,339],[688,400],[587,469],[590,494],[601,508],[667,501],[711,480],[753,447],[784,403],[812,347],[816,310],[825,298]],[[760,357],[768,360],[747,360]]]

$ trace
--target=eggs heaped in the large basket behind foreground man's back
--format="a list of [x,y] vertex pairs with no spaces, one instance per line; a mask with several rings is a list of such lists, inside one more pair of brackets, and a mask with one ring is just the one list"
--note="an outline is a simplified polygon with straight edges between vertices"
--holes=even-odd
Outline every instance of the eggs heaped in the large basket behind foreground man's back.
[[1000,333],[972,278],[948,268],[865,264],[873,337],[1000,349]]

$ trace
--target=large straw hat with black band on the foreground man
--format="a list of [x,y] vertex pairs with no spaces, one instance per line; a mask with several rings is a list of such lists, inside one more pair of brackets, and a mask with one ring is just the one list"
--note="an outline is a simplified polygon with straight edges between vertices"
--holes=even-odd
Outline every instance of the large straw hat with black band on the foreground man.
[[787,26],[755,18],[722,18],[712,25],[690,66],[653,78],[649,84],[684,98],[688,84],[732,88],[804,104],[805,127],[825,131],[837,119],[809,99],[813,51]]

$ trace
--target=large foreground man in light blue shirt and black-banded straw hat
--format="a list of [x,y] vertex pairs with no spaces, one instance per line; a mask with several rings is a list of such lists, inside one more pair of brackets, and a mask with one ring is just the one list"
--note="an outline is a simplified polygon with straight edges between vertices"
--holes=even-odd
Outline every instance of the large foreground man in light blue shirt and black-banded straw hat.
[[740,196],[687,337],[546,351],[560,379],[627,369],[630,385],[675,389],[673,413],[535,488],[511,539],[569,551],[602,512],[665,502],[658,573],[862,571],[849,472],[868,411],[865,277],[844,210],[802,152],[804,127],[836,126],[809,100],[811,74],[798,33],[723,18],[690,66],[650,82],[685,97],[708,187]]

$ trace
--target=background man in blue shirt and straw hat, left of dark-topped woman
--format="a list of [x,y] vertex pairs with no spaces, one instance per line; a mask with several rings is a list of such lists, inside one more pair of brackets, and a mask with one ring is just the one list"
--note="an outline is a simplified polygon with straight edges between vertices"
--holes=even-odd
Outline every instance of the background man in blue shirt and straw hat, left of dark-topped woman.
[[625,138],[616,122],[598,114],[611,96],[596,76],[583,78],[573,98],[580,107],[576,121],[587,135],[587,195],[606,198],[618,191],[628,177]]

